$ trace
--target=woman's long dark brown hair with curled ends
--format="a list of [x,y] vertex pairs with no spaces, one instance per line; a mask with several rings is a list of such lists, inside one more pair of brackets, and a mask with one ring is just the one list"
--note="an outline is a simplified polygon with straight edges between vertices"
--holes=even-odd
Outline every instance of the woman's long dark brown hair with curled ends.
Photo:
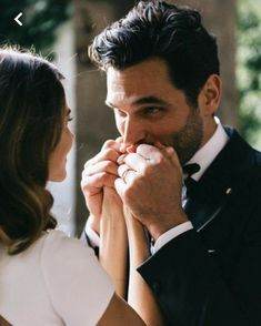
[[57,224],[46,184],[66,114],[62,78],[44,59],[0,49],[0,242],[9,254]]

